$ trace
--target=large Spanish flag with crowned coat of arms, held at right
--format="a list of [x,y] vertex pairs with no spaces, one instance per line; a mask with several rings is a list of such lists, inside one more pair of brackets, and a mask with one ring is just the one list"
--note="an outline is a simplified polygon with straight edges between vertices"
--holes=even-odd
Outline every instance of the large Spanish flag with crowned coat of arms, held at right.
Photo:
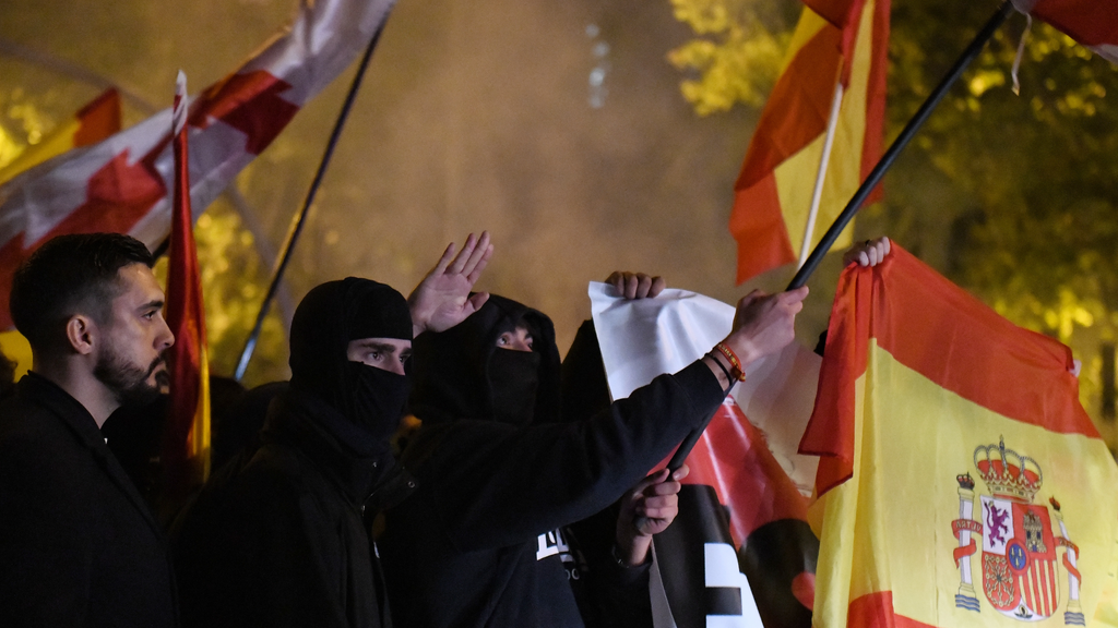
[[1110,625],[1118,467],[1071,367],[896,245],[843,273],[800,443],[816,627]]

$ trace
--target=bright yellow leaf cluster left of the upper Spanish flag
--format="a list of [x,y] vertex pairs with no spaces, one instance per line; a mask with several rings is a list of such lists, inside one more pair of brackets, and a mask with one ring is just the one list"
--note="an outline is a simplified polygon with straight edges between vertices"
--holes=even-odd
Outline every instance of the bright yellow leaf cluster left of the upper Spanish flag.
[[699,36],[667,54],[673,66],[698,75],[680,85],[695,113],[760,106],[776,80],[786,36],[769,32],[749,0],[671,2],[675,19]]

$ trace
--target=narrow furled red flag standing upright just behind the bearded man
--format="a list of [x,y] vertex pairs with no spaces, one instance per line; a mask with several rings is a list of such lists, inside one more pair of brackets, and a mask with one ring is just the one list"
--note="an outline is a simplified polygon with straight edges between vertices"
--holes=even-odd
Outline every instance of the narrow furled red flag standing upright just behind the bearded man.
[[162,458],[168,472],[167,492],[172,498],[205,479],[210,448],[209,360],[190,212],[187,110],[187,77],[180,72],[172,116],[174,209],[167,272],[167,324],[174,333],[174,345],[168,351],[171,398]]

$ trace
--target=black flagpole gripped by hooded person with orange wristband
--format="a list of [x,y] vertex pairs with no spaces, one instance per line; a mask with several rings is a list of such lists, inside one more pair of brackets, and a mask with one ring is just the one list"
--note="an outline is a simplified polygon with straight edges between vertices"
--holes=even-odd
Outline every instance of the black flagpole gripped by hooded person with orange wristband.
[[[862,183],[862,187],[859,188],[856,192],[854,192],[854,197],[850,199],[850,202],[846,203],[846,208],[842,210],[842,213],[840,213],[839,218],[836,218],[834,223],[831,225],[831,228],[827,229],[827,232],[823,235],[823,239],[819,240],[819,244],[815,245],[815,248],[812,250],[812,255],[807,257],[807,260],[804,261],[804,265],[799,268],[798,272],[796,272],[796,276],[792,278],[792,283],[788,284],[789,291],[794,291],[807,283],[807,278],[819,266],[819,261],[823,260],[823,256],[826,255],[828,250],[831,250],[831,247],[834,246],[835,240],[839,239],[839,235],[842,234],[842,230],[846,228],[846,225],[851,221],[852,218],[854,218],[854,215],[858,213],[858,210],[861,209],[862,203],[865,202],[866,197],[870,196],[870,191],[873,190],[873,188],[877,187],[879,182],[881,182],[881,178],[885,175],[885,171],[888,171],[893,165],[893,162],[897,161],[897,155],[899,155],[900,152],[904,150],[908,143],[916,135],[916,132],[919,131],[920,127],[923,126],[923,123],[928,121],[928,116],[931,115],[932,110],[935,110],[936,106],[939,105],[939,102],[942,101],[944,96],[947,95],[947,92],[951,88],[951,85],[954,85],[955,82],[958,80],[959,76],[963,74],[963,70],[965,70],[967,66],[970,65],[970,61],[973,61],[975,57],[978,56],[978,53],[980,53],[983,47],[986,46],[986,42],[989,41],[992,37],[994,37],[994,32],[997,30],[999,26],[1002,26],[1002,22],[1004,22],[1006,18],[1010,17],[1010,12],[1012,10],[1013,10],[1013,3],[1010,0],[1005,0],[1004,2],[1002,2],[1002,6],[998,7],[997,11],[986,22],[986,26],[984,26],[983,29],[978,31],[978,35],[975,36],[974,40],[970,41],[970,45],[967,46],[966,50],[963,51],[963,55],[959,56],[957,61],[955,61],[955,65],[951,66],[951,69],[948,70],[947,75],[942,78],[942,80],[939,82],[939,85],[936,86],[936,89],[932,91],[932,93],[928,96],[928,98],[923,102],[923,104],[920,105],[920,108],[917,110],[916,115],[912,116],[912,120],[910,120],[909,123],[904,125],[904,129],[901,131],[900,135],[898,135],[897,139],[893,140],[893,143],[889,146],[885,153],[881,155],[881,160],[878,162],[878,165],[873,166],[873,171],[871,171],[870,174],[865,178],[865,182]],[[695,429],[690,435],[688,435],[688,438],[682,444],[680,444],[680,448],[676,449],[675,455],[672,456],[671,462],[667,463],[667,468],[675,470],[683,465],[683,462],[686,459],[688,454],[691,453],[691,449],[695,446],[695,443],[699,441],[699,437],[702,436],[703,430],[707,429],[707,425],[710,424],[710,420],[712,418],[713,415],[711,417],[708,417],[708,419],[703,422],[703,426],[701,428]]]

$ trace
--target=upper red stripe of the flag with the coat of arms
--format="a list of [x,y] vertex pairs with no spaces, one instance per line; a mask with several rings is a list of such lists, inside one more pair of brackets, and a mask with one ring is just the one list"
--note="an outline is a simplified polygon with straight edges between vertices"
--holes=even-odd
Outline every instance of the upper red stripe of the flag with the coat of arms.
[[800,454],[823,456],[819,495],[853,473],[854,391],[871,336],[964,399],[1057,434],[1099,438],[1078,402],[1070,349],[1006,321],[894,244],[881,264],[849,267],[839,278],[815,409],[799,444]]

